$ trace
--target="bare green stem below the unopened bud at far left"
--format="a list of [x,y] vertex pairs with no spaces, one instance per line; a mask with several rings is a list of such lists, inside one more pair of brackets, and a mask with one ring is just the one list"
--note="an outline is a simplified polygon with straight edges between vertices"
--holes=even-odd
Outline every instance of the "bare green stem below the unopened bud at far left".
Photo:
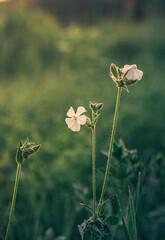
[[19,182],[20,171],[21,171],[21,164],[18,163],[17,164],[16,178],[15,178],[15,186],[14,186],[14,191],[13,191],[13,198],[12,198],[12,203],[11,203],[11,209],[10,209],[10,214],[9,214],[9,221],[8,221],[8,225],[7,225],[5,240],[7,240],[8,237],[9,237],[9,232],[10,232],[10,227],[11,227],[11,220],[12,220],[12,215],[13,215],[13,212],[14,212],[15,200],[16,200],[16,196],[17,196],[17,189],[18,189],[18,182]]

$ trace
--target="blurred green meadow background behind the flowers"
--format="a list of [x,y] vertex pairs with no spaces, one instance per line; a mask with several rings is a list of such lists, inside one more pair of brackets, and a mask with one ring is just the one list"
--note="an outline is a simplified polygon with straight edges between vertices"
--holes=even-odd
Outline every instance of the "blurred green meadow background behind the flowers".
[[[97,165],[108,150],[117,93],[109,65],[137,64],[142,81],[122,92],[116,140],[144,169],[139,239],[165,239],[165,1],[27,0],[0,3],[0,239],[7,224],[20,140],[40,152],[23,164],[11,240],[78,240],[91,194],[91,135],[65,124],[70,106],[103,102]],[[90,111],[88,111],[90,116]],[[162,156],[162,155],[161,155]],[[155,165],[154,165],[155,166]],[[98,196],[101,190],[101,182]],[[160,208],[160,209],[158,209]],[[158,209],[158,210],[157,210]],[[156,218],[152,211],[157,211]]]

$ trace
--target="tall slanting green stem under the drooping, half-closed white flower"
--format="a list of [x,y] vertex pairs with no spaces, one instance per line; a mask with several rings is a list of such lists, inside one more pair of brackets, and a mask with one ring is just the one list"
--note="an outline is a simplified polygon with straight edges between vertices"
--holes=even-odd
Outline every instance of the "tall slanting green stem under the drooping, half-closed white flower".
[[101,191],[100,201],[99,201],[99,204],[98,204],[98,210],[99,210],[100,204],[103,201],[105,190],[106,190],[106,185],[107,185],[107,181],[108,181],[108,174],[109,174],[110,165],[111,165],[111,157],[112,157],[112,152],[113,152],[113,142],[114,142],[114,136],[115,136],[115,130],[116,130],[117,116],[118,116],[118,111],[119,111],[121,91],[122,91],[122,88],[118,87],[115,114],[114,114],[112,133],[111,133],[111,140],[110,140],[110,146],[109,146],[109,152],[108,152],[108,160],[107,160],[106,172],[105,172],[105,176],[104,176],[104,182],[103,182],[103,187],[102,187],[102,191]]

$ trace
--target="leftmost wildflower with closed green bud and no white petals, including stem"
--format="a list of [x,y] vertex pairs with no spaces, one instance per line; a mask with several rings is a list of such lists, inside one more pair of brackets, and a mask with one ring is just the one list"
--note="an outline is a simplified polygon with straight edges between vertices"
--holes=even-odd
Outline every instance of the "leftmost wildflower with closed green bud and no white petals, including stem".
[[33,142],[29,142],[29,139],[27,138],[23,144],[20,142],[20,146],[17,149],[17,154],[16,154],[17,171],[16,171],[15,185],[14,185],[14,190],[13,190],[13,198],[12,198],[12,203],[11,203],[11,209],[10,209],[10,214],[9,214],[9,221],[8,221],[8,225],[7,225],[5,240],[7,240],[9,238],[11,221],[12,221],[12,216],[13,216],[13,212],[14,212],[14,206],[15,206],[15,201],[16,201],[16,196],[17,196],[18,183],[19,183],[19,177],[20,177],[20,173],[21,173],[22,164],[23,164],[24,160],[30,158],[34,153],[36,153],[40,149],[40,147],[41,147],[40,144],[35,145]]

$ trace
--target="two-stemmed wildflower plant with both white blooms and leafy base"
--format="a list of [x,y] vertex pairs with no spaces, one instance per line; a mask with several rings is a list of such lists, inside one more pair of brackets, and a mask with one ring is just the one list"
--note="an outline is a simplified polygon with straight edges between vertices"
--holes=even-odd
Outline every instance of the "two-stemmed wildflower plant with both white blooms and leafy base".
[[[125,65],[123,68],[119,68],[115,64],[110,65],[110,77],[115,82],[116,87],[118,89],[117,91],[117,98],[116,98],[116,106],[115,106],[115,113],[114,113],[114,119],[113,119],[113,125],[112,125],[112,132],[111,132],[111,138],[110,138],[110,145],[109,145],[109,151],[107,153],[107,164],[106,169],[104,172],[104,181],[102,185],[102,190],[100,194],[99,201],[97,202],[96,199],[96,124],[98,122],[99,116],[100,116],[100,110],[103,107],[103,103],[89,103],[89,108],[92,111],[92,117],[91,119],[85,115],[80,116],[82,113],[86,112],[84,107],[78,107],[77,112],[75,114],[73,108],[71,107],[69,111],[67,112],[67,116],[69,118],[66,118],[66,123],[68,125],[68,128],[70,128],[72,131],[79,131],[80,125],[86,124],[88,128],[92,131],[92,186],[93,186],[93,206],[88,206],[87,204],[81,204],[86,209],[88,209],[92,216],[89,217],[89,219],[85,220],[81,225],[79,225],[79,232],[81,235],[81,239],[84,239],[85,234],[87,234],[87,239],[91,240],[101,240],[105,236],[111,236],[111,225],[118,224],[118,217],[117,216],[104,216],[104,210],[106,207],[106,204],[111,202],[113,198],[115,197],[118,202],[118,206],[121,213],[121,219],[123,223],[123,229],[124,229],[124,236],[126,240],[131,240],[131,236],[133,234],[134,239],[137,240],[137,230],[136,230],[136,214],[137,214],[137,201],[135,203],[134,197],[132,195],[130,187],[128,187],[129,192],[129,213],[130,218],[128,222],[126,223],[124,218],[124,213],[122,210],[121,202],[118,195],[118,189],[110,179],[111,189],[113,190],[113,195],[109,197],[109,199],[104,200],[105,192],[107,189],[107,183],[109,179],[109,175],[111,173],[116,173],[117,178],[121,178],[124,180],[125,177],[132,174],[132,171],[134,165],[139,161],[139,158],[137,157],[136,151],[126,151],[127,156],[129,156],[132,169],[131,171],[127,170],[127,167],[120,167],[119,168],[112,168],[112,171],[110,171],[111,168],[111,160],[113,156],[113,150],[114,150],[114,137],[115,137],[115,131],[116,131],[116,125],[117,125],[117,118],[118,118],[118,111],[119,111],[119,104],[120,104],[120,97],[122,89],[129,92],[128,87],[135,84],[137,81],[141,80],[143,76],[143,72],[137,68],[135,64],[133,65]],[[115,150],[119,147],[117,144],[115,144]],[[126,148],[122,148],[123,149]],[[120,158],[119,158],[120,159]],[[120,165],[120,164],[119,164]],[[122,165],[123,166],[123,165]],[[138,184],[137,184],[137,191],[136,191],[136,200],[139,197],[139,186],[140,186],[140,175],[138,175]],[[115,235],[112,236],[113,239],[115,238]]]

